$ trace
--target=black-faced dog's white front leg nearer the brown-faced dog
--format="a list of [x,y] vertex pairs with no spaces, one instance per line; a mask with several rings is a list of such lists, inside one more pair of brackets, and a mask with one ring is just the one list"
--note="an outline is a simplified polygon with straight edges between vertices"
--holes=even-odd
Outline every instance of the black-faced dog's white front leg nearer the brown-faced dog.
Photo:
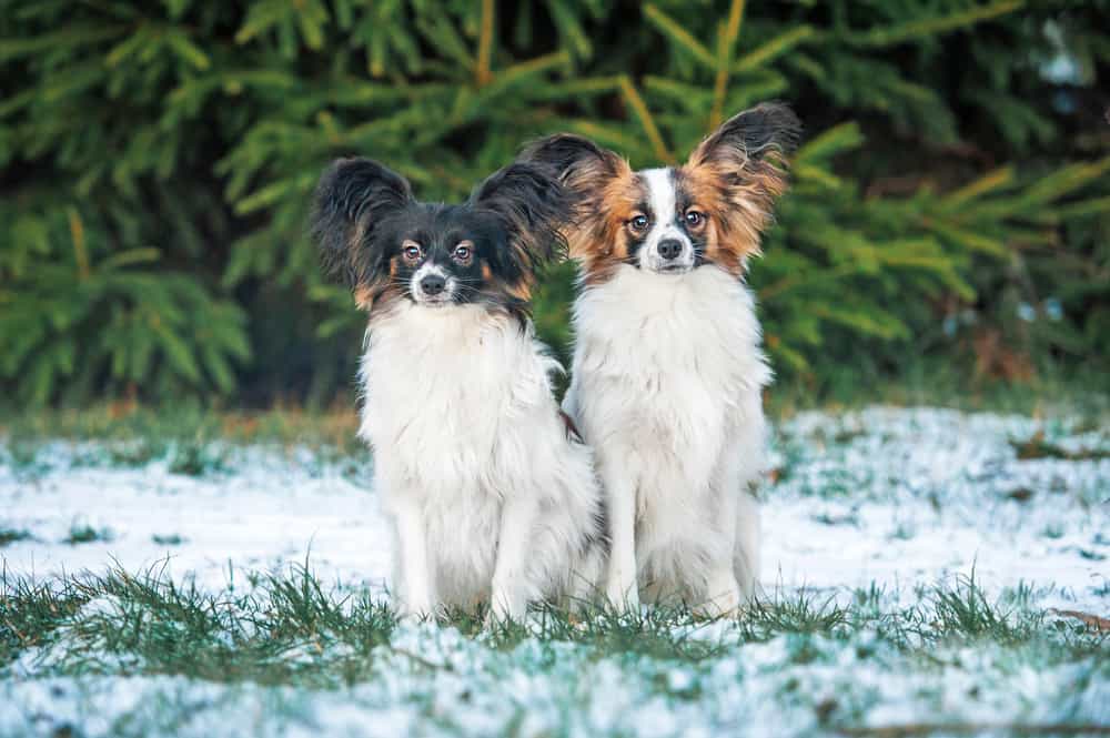
[[536,501],[517,494],[501,513],[497,563],[494,565],[490,608],[496,620],[521,620],[528,613],[527,555],[535,535]]

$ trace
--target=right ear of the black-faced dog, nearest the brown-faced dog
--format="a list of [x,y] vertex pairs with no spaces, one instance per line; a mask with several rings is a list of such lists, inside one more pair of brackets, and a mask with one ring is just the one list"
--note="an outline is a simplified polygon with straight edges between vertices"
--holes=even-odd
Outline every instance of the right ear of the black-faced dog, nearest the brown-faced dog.
[[543,166],[515,163],[494,172],[474,189],[470,204],[492,211],[508,234],[509,263],[531,276],[561,257],[566,242],[561,229],[571,218],[571,193]]

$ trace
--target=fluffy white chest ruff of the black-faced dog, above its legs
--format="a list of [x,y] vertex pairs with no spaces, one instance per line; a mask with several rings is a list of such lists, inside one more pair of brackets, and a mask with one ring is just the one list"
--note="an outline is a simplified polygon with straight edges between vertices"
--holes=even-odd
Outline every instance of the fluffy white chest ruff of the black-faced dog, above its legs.
[[[523,464],[504,428],[554,413],[557,368],[531,332],[477,306],[400,306],[374,322],[362,361],[360,433],[425,494],[471,494]],[[393,475],[391,475],[393,476]]]

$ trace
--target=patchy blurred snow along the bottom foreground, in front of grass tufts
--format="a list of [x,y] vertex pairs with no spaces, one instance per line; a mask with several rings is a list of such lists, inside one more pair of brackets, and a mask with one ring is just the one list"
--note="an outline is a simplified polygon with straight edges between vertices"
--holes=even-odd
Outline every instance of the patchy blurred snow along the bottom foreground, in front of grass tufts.
[[81,726],[77,735],[198,738],[777,737],[820,735],[827,711],[877,728],[938,716],[970,725],[1110,724],[1110,681],[1090,679],[1089,666],[1039,668],[989,649],[961,655],[973,668],[956,660],[919,673],[866,643],[824,639],[748,644],[704,666],[591,660],[534,640],[498,653],[433,626],[405,627],[396,641],[444,668],[414,664],[398,646],[377,654],[372,680],[325,691],[167,676],[0,684],[0,700],[20,705],[0,707],[0,735],[73,735],[59,728]]

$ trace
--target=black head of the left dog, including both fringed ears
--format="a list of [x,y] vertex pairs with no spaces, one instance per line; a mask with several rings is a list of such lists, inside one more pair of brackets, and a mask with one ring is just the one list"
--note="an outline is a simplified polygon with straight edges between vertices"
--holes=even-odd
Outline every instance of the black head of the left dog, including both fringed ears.
[[546,170],[507,166],[461,205],[424,203],[367,159],[332,164],[316,189],[313,234],[325,267],[370,310],[481,303],[523,316],[537,270],[562,252],[569,200]]

